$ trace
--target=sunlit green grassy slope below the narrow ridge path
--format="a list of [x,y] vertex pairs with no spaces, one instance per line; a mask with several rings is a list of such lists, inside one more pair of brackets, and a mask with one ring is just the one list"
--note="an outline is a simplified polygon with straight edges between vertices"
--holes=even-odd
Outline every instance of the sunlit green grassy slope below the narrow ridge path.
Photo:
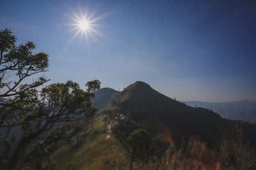
[[[129,153],[118,139],[106,139],[106,115],[97,118],[93,130],[88,127],[83,145],[71,150],[61,146],[51,155],[54,169],[125,169],[129,164]],[[49,166],[47,162],[45,165]]]

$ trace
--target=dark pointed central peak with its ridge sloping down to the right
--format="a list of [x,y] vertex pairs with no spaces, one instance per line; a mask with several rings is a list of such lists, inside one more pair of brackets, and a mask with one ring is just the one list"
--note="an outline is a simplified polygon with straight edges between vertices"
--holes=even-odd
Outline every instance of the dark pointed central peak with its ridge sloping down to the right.
[[[140,122],[147,119],[150,124],[155,120],[164,122],[172,132],[173,140],[180,143],[185,136],[189,139],[193,134],[200,134],[205,139],[209,134],[218,131],[218,122],[223,125],[220,115],[204,108],[193,108],[152,89],[142,81],[132,83],[118,93],[101,113],[120,112],[131,115]],[[204,120],[204,121],[201,121]]]

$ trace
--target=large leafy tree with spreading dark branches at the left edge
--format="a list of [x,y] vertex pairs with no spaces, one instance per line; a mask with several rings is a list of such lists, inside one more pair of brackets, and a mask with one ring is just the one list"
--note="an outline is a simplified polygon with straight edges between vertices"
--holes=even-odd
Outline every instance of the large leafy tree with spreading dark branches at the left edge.
[[47,71],[48,55],[34,53],[31,41],[16,46],[15,40],[10,29],[0,31],[0,169],[15,169],[38,148],[58,141],[68,122],[92,118],[93,92],[100,88],[99,80],[86,83],[86,91],[71,80],[42,88],[49,81],[45,76],[29,83],[28,77]]

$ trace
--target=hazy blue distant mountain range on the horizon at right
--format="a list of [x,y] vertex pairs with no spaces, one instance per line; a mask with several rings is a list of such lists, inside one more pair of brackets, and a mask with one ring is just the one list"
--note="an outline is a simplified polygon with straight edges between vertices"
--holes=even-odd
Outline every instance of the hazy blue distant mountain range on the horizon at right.
[[232,120],[244,120],[251,123],[256,122],[256,102],[255,101],[232,101],[232,102],[201,102],[182,101],[193,107],[201,107],[212,110],[223,118]]

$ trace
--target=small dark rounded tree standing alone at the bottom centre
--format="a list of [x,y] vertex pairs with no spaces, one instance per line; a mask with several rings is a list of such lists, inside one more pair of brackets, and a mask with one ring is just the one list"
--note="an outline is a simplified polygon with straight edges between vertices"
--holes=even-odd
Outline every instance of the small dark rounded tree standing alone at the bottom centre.
[[143,163],[145,162],[145,159],[148,158],[148,155],[151,152],[150,149],[152,146],[152,139],[150,138],[147,131],[144,129],[137,129],[129,135],[128,143],[130,143],[132,148],[130,166],[130,169],[132,169],[134,157],[138,157],[138,159],[141,159]]

